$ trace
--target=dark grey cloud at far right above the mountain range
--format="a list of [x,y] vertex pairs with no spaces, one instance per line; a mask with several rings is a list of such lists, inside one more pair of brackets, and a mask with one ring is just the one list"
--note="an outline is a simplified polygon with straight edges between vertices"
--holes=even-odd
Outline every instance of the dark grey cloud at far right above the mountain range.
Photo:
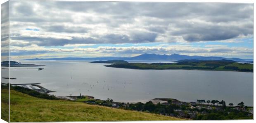
[[184,25],[186,26],[177,25],[180,30],[171,32],[171,35],[183,36],[186,41],[217,41],[232,39],[239,35],[247,36],[253,32],[253,28],[246,26],[216,26],[204,23],[184,23]]

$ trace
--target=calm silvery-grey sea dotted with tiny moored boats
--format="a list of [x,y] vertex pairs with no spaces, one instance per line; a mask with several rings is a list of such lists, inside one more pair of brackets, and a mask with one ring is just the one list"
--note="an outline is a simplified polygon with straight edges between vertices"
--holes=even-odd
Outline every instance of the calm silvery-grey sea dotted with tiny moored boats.
[[[253,73],[197,70],[134,70],[109,68],[89,61],[21,61],[47,64],[10,70],[12,84],[41,83],[56,96],[94,96],[118,102],[145,102],[153,98],[181,101],[224,100],[253,105]],[[142,61],[147,62],[149,61]],[[161,62],[161,61],[157,61]],[[3,70],[2,70],[3,72]]]

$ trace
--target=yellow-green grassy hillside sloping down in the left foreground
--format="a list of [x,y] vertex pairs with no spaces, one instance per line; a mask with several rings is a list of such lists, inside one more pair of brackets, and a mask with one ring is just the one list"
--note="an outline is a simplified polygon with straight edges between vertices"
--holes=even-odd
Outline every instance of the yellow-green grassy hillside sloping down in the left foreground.
[[[2,89],[1,96],[8,96],[8,90]],[[14,90],[11,90],[10,97],[11,122],[180,120],[169,116],[88,105],[82,102],[40,99]]]

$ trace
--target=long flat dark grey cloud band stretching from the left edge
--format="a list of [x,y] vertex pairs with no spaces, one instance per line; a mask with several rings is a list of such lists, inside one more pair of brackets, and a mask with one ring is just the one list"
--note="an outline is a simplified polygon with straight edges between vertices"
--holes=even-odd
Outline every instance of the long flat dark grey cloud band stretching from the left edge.
[[[21,36],[19,34],[14,34],[11,39],[14,43],[12,46],[30,46],[31,44],[36,44],[38,46],[64,46],[67,44],[95,44],[95,43],[137,43],[141,42],[153,42],[156,38],[155,33],[134,33],[132,36],[120,35],[120,34],[107,34],[102,37],[97,38],[84,38],[84,37],[71,37],[71,39],[57,39],[51,37],[32,37],[32,36]],[[15,40],[29,41],[30,43],[19,43]]]

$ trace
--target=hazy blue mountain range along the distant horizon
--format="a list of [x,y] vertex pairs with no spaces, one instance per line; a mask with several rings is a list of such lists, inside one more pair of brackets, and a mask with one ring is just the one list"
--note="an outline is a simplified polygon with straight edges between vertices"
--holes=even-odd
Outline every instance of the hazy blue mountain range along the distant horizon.
[[48,59],[23,59],[23,60],[30,60],[30,61],[40,61],[40,60],[155,60],[155,61],[178,61],[184,59],[198,59],[198,60],[233,60],[237,62],[243,61],[253,61],[253,59],[240,59],[240,58],[225,58],[225,57],[204,57],[204,56],[188,56],[188,55],[179,55],[179,54],[172,54],[172,55],[158,55],[158,54],[142,54],[135,57],[93,57],[93,58],[81,58],[81,57],[66,57],[66,58],[48,58]]

